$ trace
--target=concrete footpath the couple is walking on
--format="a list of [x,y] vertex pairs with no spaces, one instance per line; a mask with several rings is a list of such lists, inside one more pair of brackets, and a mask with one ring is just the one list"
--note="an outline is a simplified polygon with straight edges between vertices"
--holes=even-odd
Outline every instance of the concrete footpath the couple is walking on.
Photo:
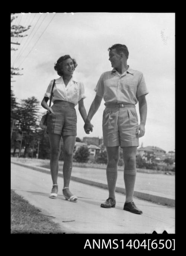
[[[59,173],[59,193],[57,199],[50,199],[51,175],[47,168],[35,167],[18,162],[11,163],[11,189],[32,205],[41,209],[42,214],[60,224],[62,233],[67,234],[158,234],[167,231],[175,233],[175,208],[160,205],[135,197],[135,204],[143,211],[142,215],[123,210],[125,195],[116,192],[116,208],[105,209],[100,203],[108,198],[108,190],[103,185],[83,183],[75,177],[70,189],[78,196],[73,203],[62,195],[63,179]],[[79,179],[79,180],[78,180]],[[90,180],[91,181],[91,180]],[[96,181],[94,181],[96,182]]]

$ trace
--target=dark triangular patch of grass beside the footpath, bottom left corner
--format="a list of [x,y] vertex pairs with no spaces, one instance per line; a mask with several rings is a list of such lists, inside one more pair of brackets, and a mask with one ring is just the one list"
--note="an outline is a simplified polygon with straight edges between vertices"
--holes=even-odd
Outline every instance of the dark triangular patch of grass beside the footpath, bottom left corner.
[[60,225],[11,190],[11,234],[62,234]]

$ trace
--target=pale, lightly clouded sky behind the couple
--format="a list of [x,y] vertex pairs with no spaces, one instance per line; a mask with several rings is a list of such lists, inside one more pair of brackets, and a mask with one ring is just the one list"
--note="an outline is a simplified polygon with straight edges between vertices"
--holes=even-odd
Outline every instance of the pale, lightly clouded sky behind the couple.
[[[18,102],[28,97],[42,101],[52,79],[59,76],[54,63],[69,54],[78,66],[74,72],[84,83],[88,113],[94,88],[103,72],[112,70],[108,48],[125,44],[128,65],[144,74],[149,94],[145,135],[140,146],[175,149],[175,13],[17,13],[12,25],[31,25],[23,38],[11,38],[11,66],[19,67],[11,85]],[[45,113],[41,108],[41,115]],[[102,138],[104,101],[92,118],[93,132],[84,132],[77,111],[77,137]],[[136,105],[140,120],[138,104]],[[143,144],[142,144],[143,143]]]

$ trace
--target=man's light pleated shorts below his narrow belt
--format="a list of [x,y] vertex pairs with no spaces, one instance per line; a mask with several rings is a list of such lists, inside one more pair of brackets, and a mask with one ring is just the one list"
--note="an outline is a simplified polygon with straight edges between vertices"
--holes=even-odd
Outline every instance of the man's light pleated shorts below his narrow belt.
[[106,107],[103,111],[103,144],[105,146],[139,146],[136,130],[138,116],[134,107]]

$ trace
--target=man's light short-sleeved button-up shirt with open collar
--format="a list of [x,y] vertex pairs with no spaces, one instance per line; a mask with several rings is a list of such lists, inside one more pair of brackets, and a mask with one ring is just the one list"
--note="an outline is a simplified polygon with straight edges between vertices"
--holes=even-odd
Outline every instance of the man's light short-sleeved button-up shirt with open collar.
[[143,73],[130,67],[122,75],[116,69],[102,73],[94,91],[105,102],[131,104],[137,104],[138,97],[148,94]]

